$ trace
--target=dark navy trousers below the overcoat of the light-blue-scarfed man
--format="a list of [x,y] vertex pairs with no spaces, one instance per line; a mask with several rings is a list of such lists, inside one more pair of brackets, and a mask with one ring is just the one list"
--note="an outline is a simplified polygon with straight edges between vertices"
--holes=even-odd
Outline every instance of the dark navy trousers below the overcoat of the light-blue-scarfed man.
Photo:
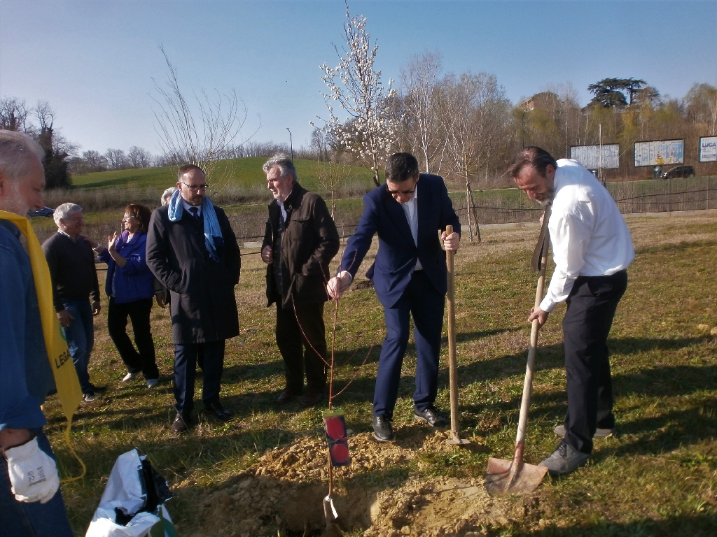
[[218,342],[174,345],[174,399],[177,412],[189,415],[194,408],[194,378],[196,355],[204,352],[204,389],[201,400],[205,403],[219,400],[219,388],[224,371],[224,347],[227,340]]

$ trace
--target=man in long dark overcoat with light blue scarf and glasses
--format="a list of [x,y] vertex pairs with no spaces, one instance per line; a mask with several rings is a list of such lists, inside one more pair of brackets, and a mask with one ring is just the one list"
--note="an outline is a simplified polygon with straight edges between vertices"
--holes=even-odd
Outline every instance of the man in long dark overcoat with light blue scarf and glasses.
[[179,168],[168,205],[154,211],[147,233],[147,265],[170,291],[174,341],[174,432],[187,430],[194,407],[196,357],[204,353],[207,411],[232,415],[219,402],[226,340],[239,335],[234,286],[239,283],[239,245],[222,208],[206,198],[204,171]]

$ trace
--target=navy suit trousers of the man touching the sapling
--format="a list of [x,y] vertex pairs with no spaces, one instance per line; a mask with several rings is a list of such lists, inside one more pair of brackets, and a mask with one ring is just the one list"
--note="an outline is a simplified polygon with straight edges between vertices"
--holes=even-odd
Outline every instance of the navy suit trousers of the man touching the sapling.
[[386,339],[381,347],[374,391],[374,415],[392,418],[399,392],[401,367],[413,317],[416,342],[416,410],[433,405],[438,391],[438,355],[443,329],[445,294],[441,294],[423,271],[412,274],[404,294],[392,308],[384,308]]

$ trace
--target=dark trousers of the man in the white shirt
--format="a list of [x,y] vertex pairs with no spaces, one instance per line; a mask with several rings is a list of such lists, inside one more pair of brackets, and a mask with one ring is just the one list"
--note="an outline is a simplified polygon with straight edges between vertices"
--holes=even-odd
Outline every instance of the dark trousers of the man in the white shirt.
[[579,276],[566,300],[565,442],[581,453],[592,453],[592,436],[598,427],[612,429],[615,425],[607,336],[625,289],[627,271],[610,276]]

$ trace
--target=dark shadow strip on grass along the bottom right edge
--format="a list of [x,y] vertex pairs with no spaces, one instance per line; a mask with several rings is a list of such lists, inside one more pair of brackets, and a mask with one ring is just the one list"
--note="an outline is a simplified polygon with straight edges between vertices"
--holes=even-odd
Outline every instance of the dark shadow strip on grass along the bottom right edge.
[[[581,524],[566,528],[545,528],[522,533],[533,537],[713,537],[717,535],[717,516],[714,514],[675,516],[664,520],[597,524]],[[489,536],[505,535],[504,530],[488,532]]]

